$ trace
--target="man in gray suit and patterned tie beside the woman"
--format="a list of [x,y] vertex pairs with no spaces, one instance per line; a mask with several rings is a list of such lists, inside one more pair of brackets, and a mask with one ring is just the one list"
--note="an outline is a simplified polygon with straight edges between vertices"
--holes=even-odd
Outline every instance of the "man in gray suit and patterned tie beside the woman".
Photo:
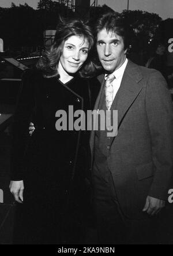
[[152,243],[153,215],[165,206],[172,174],[170,93],[160,72],[127,60],[127,31],[116,14],[104,14],[96,33],[104,74],[94,109],[118,110],[117,136],[91,134],[99,242]]

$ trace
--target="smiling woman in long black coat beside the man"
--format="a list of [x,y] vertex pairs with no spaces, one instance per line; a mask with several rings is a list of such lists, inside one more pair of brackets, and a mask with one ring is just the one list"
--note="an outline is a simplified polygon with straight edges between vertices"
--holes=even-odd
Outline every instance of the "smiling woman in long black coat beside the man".
[[[74,205],[80,205],[85,195],[88,133],[72,128],[58,131],[55,114],[63,109],[68,116],[69,106],[73,112],[91,109],[94,99],[85,78],[94,70],[88,58],[93,43],[88,25],[61,20],[50,52],[36,71],[27,70],[23,76],[13,124],[10,182],[18,202],[18,243],[78,242],[70,235],[67,238],[67,233],[73,228],[72,219],[75,227],[80,222]],[[31,137],[27,136],[29,120],[36,128]],[[73,237],[76,234],[73,231]]]

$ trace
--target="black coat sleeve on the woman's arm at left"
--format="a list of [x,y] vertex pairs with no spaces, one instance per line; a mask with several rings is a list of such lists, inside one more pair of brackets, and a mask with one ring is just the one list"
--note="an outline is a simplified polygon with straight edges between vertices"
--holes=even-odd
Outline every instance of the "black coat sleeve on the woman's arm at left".
[[31,70],[24,71],[12,125],[11,180],[24,179],[24,155],[29,137],[29,120],[34,107]]

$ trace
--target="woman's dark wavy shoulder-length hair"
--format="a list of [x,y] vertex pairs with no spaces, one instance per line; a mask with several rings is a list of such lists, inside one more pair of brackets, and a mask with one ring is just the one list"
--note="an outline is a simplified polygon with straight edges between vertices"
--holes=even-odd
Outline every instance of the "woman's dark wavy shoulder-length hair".
[[65,41],[73,35],[84,36],[89,43],[88,58],[82,65],[77,74],[81,77],[89,78],[95,72],[95,65],[91,60],[91,51],[95,43],[92,30],[87,23],[79,19],[65,20],[60,18],[57,25],[54,42],[49,51],[44,52],[43,57],[40,58],[36,67],[43,72],[47,78],[59,76],[58,63],[61,57]]

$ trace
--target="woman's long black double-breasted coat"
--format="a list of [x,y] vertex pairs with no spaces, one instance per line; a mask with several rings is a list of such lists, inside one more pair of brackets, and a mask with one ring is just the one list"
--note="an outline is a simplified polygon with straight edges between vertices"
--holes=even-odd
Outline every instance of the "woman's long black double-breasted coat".
[[[92,109],[99,89],[95,82],[76,77],[63,85],[39,71],[24,72],[13,123],[12,180],[24,180],[16,243],[82,242],[82,221],[90,208],[84,182],[89,131],[58,131],[55,114],[60,109],[68,114],[69,105],[74,111]],[[35,126],[32,136],[30,121]]]

